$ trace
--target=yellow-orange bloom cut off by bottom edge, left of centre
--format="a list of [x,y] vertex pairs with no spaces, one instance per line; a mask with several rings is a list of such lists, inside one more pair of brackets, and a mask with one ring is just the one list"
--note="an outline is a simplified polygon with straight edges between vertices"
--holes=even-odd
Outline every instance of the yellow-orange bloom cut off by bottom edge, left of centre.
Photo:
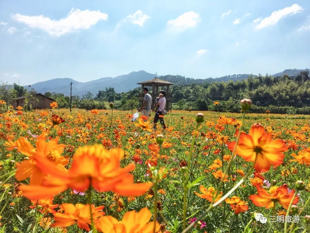
[[[103,233],[153,233],[154,222],[148,222],[151,217],[151,212],[143,208],[139,212],[126,212],[121,221],[112,216],[100,217],[96,228]],[[155,231],[159,231],[159,228],[160,225],[156,222]]]

